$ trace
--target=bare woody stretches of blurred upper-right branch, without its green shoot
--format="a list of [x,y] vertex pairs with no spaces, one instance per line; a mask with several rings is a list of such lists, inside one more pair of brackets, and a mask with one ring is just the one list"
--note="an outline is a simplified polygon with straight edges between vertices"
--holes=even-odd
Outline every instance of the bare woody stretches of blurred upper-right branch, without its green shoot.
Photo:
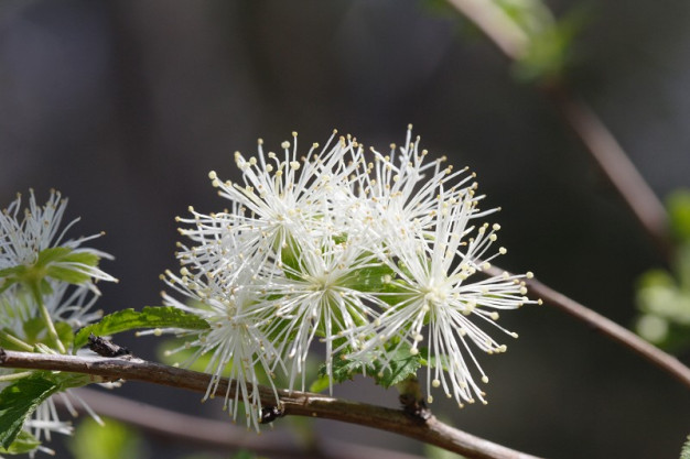
[[[511,61],[519,61],[529,51],[530,37],[494,1],[448,1],[474,22]],[[567,90],[561,79],[550,80],[539,88],[562,113],[565,123],[584,144],[600,171],[623,198],[657,249],[670,261],[672,244],[666,209],[615,136],[584,101]]]

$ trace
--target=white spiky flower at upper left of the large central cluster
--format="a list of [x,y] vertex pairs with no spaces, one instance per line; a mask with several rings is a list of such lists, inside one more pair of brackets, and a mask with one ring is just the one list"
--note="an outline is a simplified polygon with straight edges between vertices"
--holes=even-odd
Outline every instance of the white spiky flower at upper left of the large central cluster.
[[191,208],[193,219],[177,219],[196,227],[180,232],[201,243],[180,245],[182,263],[203,266],[211,275],[233,277],[247,266],[278,262],[276,254],[295,233],[323,233],[327,221],[321,217],[333,208],[334,198],[351,193],[348,176],[362,155],[354,139],[342,136],[331,146],[334,138],[335,131],[320,153],[314,143],[302,157],[298,155],[297,132],[292,151],[290,142],[282,143],[282,155],[266,154],[259,140],[257,156],[245,159],[235,153],[242,184],[222,182],[211,172],[213,185],[231,201],[231,208],[209,216]]

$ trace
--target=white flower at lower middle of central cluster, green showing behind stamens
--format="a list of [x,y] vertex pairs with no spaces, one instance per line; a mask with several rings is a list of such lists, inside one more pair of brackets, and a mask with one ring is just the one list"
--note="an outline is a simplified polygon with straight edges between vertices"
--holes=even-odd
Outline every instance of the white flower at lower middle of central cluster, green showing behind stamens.
[[284,275],[266,276],[267,298],[255,314],[263,317],[267,335],[290,365],[291,390],[298,376],[305,387],[304,364],[315,337],[326,343],[331,378],[334,341],[356,348],[357,327],[378,316],[382,302],[376,295],[376,273],[385,265],[367,248],[357,238],[300,236],[292,247],[294,259],[281,265]]

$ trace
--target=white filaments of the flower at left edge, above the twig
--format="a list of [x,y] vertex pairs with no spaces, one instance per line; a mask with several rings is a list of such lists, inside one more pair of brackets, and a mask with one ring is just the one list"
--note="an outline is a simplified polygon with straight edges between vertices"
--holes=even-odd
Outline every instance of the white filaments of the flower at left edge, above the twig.
[[[53,273],[74,272],[83,274],[89,281],[85,282],[94,292],[98,289],[94,282],[115,281],[111,275],[97,266],[79,261],[78,254],[87,254],[97,259],[112,259],[101,251],[84,248],[82,244],[101,234],[93,234],[73,240],[65,240],[65,233],[79,219],[72,220],[61,229],[62,218],[67,207],[67,199],[61,199],[61,194],[51,190],[51,196],[44,206],[36,204],[33,190],[30,190],[29,207],[20,212],[21,195],[18,195],[7,209],[0,212],[0,273],[17,266],[30,269],[40,261],[41,253],[46,249],[64,248],[75,256],[61,256],[46,262]],[[6,271],[7,272],[7,271]],[[0,289],[2,288],[0,276]]]

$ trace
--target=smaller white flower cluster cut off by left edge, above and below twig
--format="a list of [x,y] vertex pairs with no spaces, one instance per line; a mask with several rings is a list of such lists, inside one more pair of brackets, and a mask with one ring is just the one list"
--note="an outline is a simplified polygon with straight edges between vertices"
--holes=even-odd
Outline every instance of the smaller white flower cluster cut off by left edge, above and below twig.
[[[78,221],[61,227],[66,206],[67,200],[55,190],[40,206],[30,190],[25,208],[18,195],[0,212],[0,338],[4,346],[22,351],[66,352],[63,343],[51,337],[51,329],[56,332],[60,324],[76,331],[103,315],[93,310],[100,295],[95,283],[116,278],[98,269],[97,260],[111,256],[82,247],[101,234],[65,240],[67,230]],[[26,374],[30,373],[3,370],[0,390]],[[76,394],[67,391],[55,396],[62,397],[73,415],[76,416],[76,409],[71,398],[99,420]],[[36,408],[24,429],[37,440],[50,440],[52,433],[73,430],[71,423],[60,420],[53,397]],[[52,452],[43,446],[39,449]]]

